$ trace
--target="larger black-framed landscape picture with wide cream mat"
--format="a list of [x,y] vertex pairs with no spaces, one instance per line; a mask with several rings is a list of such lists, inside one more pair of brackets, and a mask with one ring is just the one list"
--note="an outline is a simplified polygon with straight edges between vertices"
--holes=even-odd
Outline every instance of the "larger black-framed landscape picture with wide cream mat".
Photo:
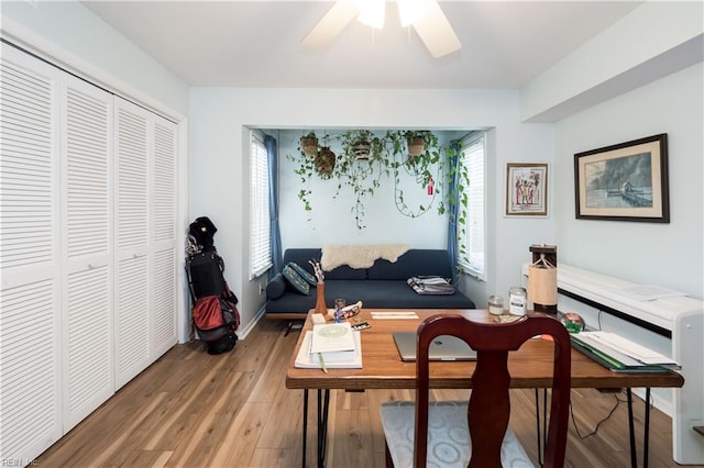
[[670,222],[668,135],[574,155],[578,219]]

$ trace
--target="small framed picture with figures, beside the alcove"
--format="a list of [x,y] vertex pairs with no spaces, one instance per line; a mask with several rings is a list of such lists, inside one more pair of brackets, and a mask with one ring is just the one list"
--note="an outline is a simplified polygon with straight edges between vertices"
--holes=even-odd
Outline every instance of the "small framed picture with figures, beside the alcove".
[[508,163],[506,165],[506,215],[548,215],[548,165]]

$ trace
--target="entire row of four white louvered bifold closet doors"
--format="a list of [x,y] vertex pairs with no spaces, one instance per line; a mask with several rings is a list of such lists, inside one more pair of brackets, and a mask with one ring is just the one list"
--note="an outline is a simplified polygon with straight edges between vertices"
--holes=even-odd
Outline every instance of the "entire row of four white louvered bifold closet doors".
[[0,459],[26,465],[177,342],[177,127],[1,46]]

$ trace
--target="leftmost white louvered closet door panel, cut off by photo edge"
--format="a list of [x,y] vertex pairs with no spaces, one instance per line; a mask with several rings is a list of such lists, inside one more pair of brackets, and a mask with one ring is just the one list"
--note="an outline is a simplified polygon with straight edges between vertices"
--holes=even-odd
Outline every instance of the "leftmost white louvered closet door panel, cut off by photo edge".
[[0,51],[0,460],[26,465],[62,435],[58,71]]

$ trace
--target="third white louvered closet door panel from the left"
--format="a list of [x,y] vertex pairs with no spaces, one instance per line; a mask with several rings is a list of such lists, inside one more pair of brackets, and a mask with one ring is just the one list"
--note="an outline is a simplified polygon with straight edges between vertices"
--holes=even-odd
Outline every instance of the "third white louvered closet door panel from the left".
[[150,359],[150,113],[116,97],[116,385]]

